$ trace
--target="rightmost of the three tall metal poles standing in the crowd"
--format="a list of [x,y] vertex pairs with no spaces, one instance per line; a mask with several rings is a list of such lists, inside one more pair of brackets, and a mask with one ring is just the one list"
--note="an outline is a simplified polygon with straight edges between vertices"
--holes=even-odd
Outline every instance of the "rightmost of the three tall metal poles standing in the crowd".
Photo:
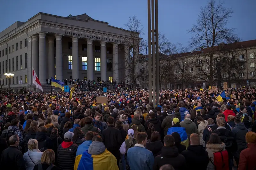
[[159,50],[158,50],[158,0],[155,0],[156,15],[156,105],[159,104]]

